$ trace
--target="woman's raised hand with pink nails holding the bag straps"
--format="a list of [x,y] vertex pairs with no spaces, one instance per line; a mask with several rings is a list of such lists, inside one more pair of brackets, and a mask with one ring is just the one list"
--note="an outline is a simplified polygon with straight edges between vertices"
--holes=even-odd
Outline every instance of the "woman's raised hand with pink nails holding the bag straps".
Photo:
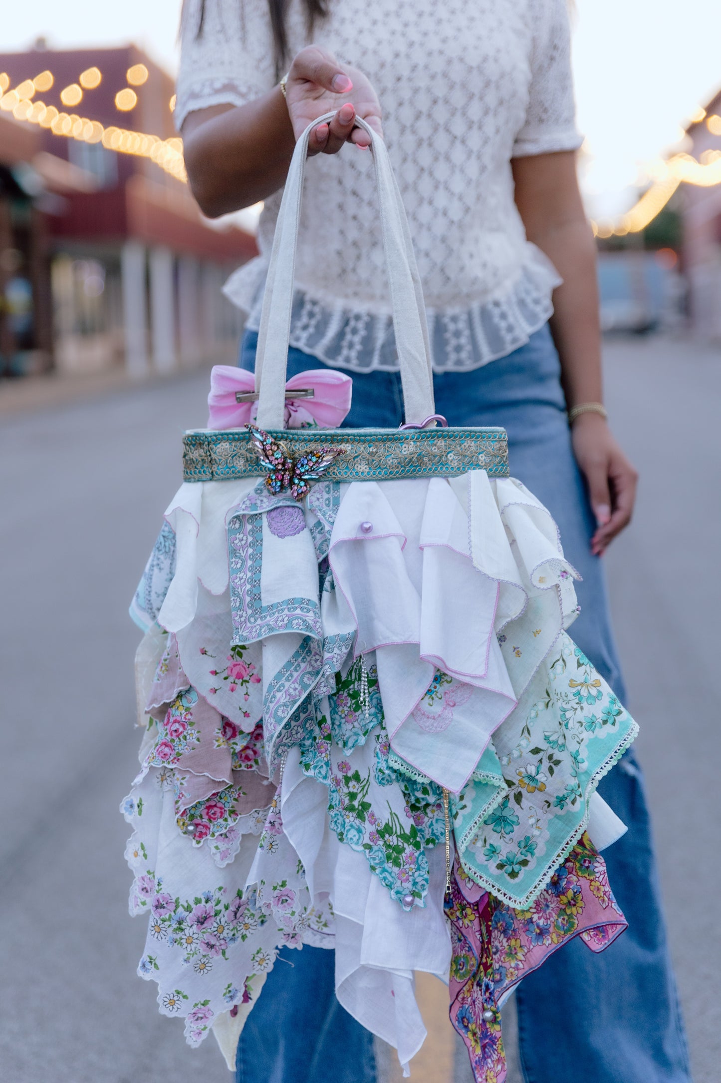
[[341,67],[335,57],[317,45],[302,49],[288,73],[285,102],[297,140],[308,125],[324,113],[337,109],[330,123],[311,133],[308,154],[336,154],[344,143],[368,147],[371,139],[362,128],[353,128],[356,116],[383,135],[380,105],[369,79],[353,67]]

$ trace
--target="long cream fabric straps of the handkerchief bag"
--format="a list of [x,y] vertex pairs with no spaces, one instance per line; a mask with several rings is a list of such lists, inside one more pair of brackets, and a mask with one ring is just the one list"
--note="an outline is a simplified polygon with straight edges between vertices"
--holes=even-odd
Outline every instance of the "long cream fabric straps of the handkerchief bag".
[[[334,116],[334,113],[326,113],[308,125],[295,144],[288,171],[270,252],[255,358],[257,425],[262,429],[283,428],[295,252],[308,140],[313,128]],[[356,117],[356,125],[371,136],[405,421],[419,425],[424,418],[435,414],[430,344],[420,276],[386,145],[360,117]]]

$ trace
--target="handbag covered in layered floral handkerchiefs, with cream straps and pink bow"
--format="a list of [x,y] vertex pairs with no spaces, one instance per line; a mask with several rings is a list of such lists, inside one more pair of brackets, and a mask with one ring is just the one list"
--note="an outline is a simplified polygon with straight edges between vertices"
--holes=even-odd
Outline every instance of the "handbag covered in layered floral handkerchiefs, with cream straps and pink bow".
[[311,410],[318,392],[338,423],[348,401],[347,377],[285,384],[308,128],[254,390],[214,373],[212,419],[236,417],[233,399],[249,419],[186,433],[131,608],[145,630],[146,734],[123,804],[131,911],[150,914],[139,971],[189,1043],[212,1029],[230,1066],[279,948],[334,947],[338,1000],[408,1066],[426,970],[449,982],[476,1078],[500,1080],[515,984],[565,940],[598,951],[625,927],[599,856],[625,828],[595,791],[637,727],[566,634],[577,573],[510,477],[505,431],[436,415],[402,200],[383,140],[357,122],[405,423],[283,428],[286,402]]

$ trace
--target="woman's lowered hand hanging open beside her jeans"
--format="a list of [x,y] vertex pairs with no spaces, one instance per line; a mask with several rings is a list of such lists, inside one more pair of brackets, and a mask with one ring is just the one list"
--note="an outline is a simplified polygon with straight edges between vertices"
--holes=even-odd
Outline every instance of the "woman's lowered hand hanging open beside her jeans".
[[571,429],[576,461],[588,483],[598,527],[591,552],[601,557],[609,544],[628,526],[638,474],[599,414],[582,414]]

